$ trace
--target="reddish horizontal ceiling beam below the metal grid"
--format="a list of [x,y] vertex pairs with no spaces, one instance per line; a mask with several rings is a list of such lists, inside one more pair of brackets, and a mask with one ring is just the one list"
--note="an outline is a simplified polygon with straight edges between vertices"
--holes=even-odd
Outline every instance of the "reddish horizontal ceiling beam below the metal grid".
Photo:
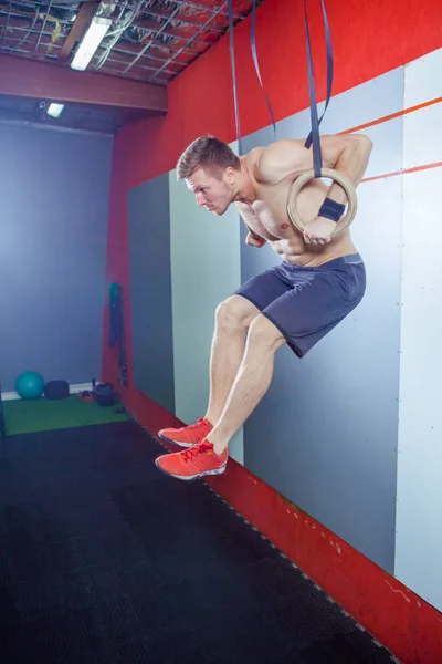
[[0,53],[0,94],[167,113],[167,89]]

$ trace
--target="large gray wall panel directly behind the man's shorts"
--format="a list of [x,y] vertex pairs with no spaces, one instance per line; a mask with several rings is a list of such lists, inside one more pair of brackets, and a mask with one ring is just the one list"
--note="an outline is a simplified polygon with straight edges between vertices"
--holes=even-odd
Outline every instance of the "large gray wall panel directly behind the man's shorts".
[[[327,132],[339,131],[344,122],[347,126],[360,124],[367,115],[367,100],[380,101],[381,107],[371,103],[371,117],[401,105],[403,83],[397,72],[367,86],[346,93],[350,117],[343,117],[346,106],[332,103]],[[293,127],[301,126],[297,116],[285,121],[286,127],[290,122]],[[371,174],[373,168],[400,170],[402,121],[379,125],[376,132]],[[243,149],[267,143],[269,128],[265,136],[246,137]],[[362,184],[358,198],[352,236],[367,267],[366,297],[302,361],[287,346],[276,353],[271,387],[244,426],[244,461],[251,471],[392,572],[401,179]],[[243,247],[242,281],[278,262],[270,248]]]

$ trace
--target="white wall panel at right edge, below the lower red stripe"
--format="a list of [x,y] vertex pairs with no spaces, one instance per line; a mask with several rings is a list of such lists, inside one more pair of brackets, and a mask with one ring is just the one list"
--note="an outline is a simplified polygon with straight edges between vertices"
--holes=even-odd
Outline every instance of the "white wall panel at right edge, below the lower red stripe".
[[[441,145],[442,147],[442,145]],[[403,176],[396,575],[442,610],[442,168]]]

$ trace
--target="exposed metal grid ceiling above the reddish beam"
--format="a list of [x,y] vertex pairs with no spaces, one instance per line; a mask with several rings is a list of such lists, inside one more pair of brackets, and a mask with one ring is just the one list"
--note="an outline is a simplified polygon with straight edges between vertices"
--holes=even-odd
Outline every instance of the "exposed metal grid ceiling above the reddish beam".
[[[90,1],[0,0],[0,51],[69,66],[73,52],[66,59],[63,46]],[[252,0],[233,0],[234,23],[251,10]],[[113,24],[88,70],[158,85],[167,85],[229,29],[224,0],[105,0],[98,14]]]

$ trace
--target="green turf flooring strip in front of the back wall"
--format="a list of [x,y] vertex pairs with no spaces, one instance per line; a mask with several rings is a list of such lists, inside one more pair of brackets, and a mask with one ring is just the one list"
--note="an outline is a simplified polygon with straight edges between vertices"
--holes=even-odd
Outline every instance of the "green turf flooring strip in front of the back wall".
[[3,402],[8,436],[120,422],[128,418],[126,413],[117,414],[114,408],[115,406],[104,408],[94,401],[82,401],[76,395],[60,401],[42,397],[35,401],[18,398]]

